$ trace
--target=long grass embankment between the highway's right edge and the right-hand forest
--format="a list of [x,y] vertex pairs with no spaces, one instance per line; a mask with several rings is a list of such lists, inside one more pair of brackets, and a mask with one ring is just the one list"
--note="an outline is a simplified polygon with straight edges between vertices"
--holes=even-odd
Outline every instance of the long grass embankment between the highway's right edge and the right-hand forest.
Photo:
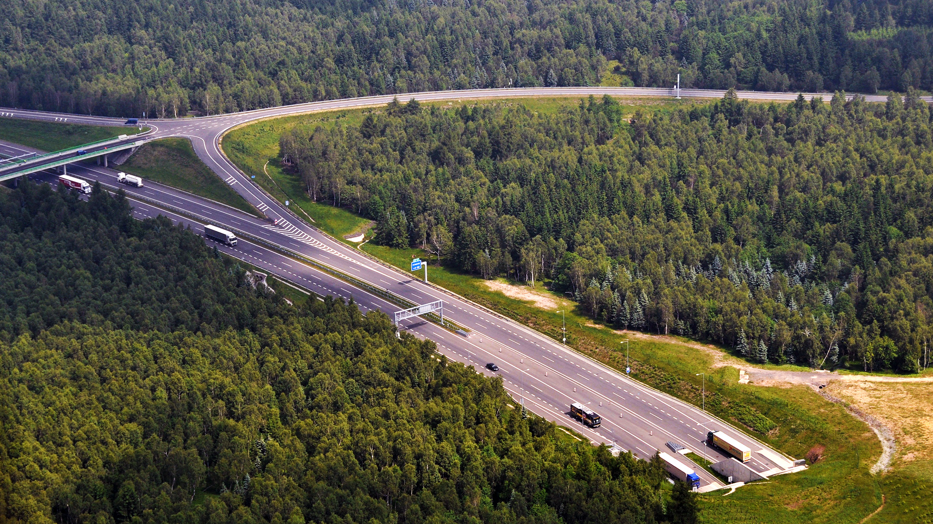
[[[522,102],[527,102],[526,106],[534,105],[534,110],[559,110],[561,104],[577,103],[568,99]],[[627,107],[631,112],[636,108],[634,104]],[[278,137],[299,123],[334,125],[341,119],[351,122],[361,119],[365,111],[259,122],[230,132],[224,139],[224,148],[244,172],[257,175],[257,180],[260,175],[265,177],[260,184],[269,188],[273,195],[280,200],[297,200],[302,209],[314,216],[315,226],[342,238],[347,232],[362,227],[366,220],[331,208],[330,216],[336,218],[317,221],[317,216],[327,217],[322,209],[327,206],[313,202],[306,205],[297,177],[274,164],[278,157]],[[263,170],[267,161],[269,175]],[[363,250],[406,271],[412,255],[425,258],[424,252],[415,249],[396,250],[366,244]],[[560,339],[562,316],[556,310],[542,310],[533,302],[493,291],[481,279],[439,268],[434,260],[430,261],[428,277],[454,293]],[[567,304],[560,296],[553,299],[562,308]],[[566,325],[571,346],[606,365],[624,370],[626,355],[620,345],[624,336],[593,325],[589,318],[575,310],[567,312]],[[690,350],[683,344],[633,338],[630,345],[634,378],[699,406],[701,378],[696,374],[707,373],[706,407],[718,416],[794,457],[803,457],[815,446],[826,447],[824,458],[805,472],[777,476],[768,484],[753,484],[728,497],[722,497],[721,492],[703,495],[703,522],[856,523],[880,505],[882,490],[869,468],[880,455],[881,446],[870,429],[843,407],[827,402],[802,386],[761,388],[738,384],[738,372],[734,367],[717,366],[709,352]]]

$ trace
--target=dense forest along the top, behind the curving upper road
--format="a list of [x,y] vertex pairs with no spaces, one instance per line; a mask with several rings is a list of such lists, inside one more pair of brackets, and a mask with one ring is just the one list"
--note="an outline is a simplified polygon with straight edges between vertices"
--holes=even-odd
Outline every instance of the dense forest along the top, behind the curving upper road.
[[933,89],[926,0],[8,0],[0,103],[139,117],[422,90]]

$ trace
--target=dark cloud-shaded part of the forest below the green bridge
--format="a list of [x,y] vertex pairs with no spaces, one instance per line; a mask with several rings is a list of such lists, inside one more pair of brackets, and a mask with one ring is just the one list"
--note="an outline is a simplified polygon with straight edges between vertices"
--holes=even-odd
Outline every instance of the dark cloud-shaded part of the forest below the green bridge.
[[0,335],[62,322],[163,332],[256,328],[271,301],[229,286],[244,270],[206,258],[203,240],[160,217],[140,222],[122,196],[90,203],[23,185],[0,200]]

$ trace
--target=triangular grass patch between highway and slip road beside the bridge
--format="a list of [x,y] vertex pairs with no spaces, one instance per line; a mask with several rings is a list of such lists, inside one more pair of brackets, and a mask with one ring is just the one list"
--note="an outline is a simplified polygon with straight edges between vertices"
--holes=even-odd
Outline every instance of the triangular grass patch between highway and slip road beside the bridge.
[[119,169],[256,214],[249,202],[204,165],[185,138],[147,142]]

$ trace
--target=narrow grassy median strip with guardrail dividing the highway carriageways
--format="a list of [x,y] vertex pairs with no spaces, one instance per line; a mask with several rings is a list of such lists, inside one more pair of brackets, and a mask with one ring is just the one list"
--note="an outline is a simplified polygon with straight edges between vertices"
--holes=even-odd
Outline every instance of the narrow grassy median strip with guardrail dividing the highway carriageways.
[[[172,210],[174,213],[177,213],[177,214],[184,214],[184,215],[188,216],[189,218],[193,218],[193,219],[198,220],[199,222],[203,222],[203,223],[205,223],[205,224],[211,224],[211,225],[217,226],[218,228],[232,229],[232,230],[235,231],[237,234],[242,235],[242,237],[243,237],[244,239],[248,239],[249,241],[254,242],[254,243],[262,244],[262,245],[264,245],[265,247],[267,247],[267,248],[269,248],[269,249],[272,249],[272,250],[274,250],[274,251],[277,251],[277,252],[279,252],[279,253],[281,253],[281,254],[283,254],[283,255],[289,256],[289,257],[294,258],[294,259],[296,259],[296,260],[299,260],[300,262],[303,262],[303,263],[305,263],[305,264],[307,264],[307,265],[309,265],[309,266],[312,266],[312,267],[315,268],[315,269],[320,269],[320,270],[326,272],[327,274],[329,274],[329,275],[331,275],[331,276],[333,276],[333,277],[336,277],[336,278],[340,279],[341,281],[343,281],[343,282],[345,282],[345,283],[349,283],[349,284],[353,285],[354,287],[360,288],[360,289],[366,291],[367,293],[369,293],[369,294],[371,294],[371,295],[379,296],[380,298],[383,298],[384,300],[386,300],[386,301],[388,301],[388,302],[391,302],[391,303],[393,303],[393,304],[396,304],[397,306],[399,306],[399,307],[401,307],[401,308],[409,309],[409,308],[413,308],[413,307],[416,307],[416,306],[419,305],[419,304],[415,304],[414,302],[412,302],[412,301],[409,300],[408,298],[405,298],[404,296],[398,296],[398,295],[396,295],[395,293],[392,293],[391,291],[389,291],[389,290],[387,290],[387,289],[384,289],[384,288],[382,288],[382,287],[377,287],[377,286],[375,286],[375,285],[372,285],[371,283],[368,283],[368,282],[366,282],[366,281],[360,280],[360,279],[356,278],[356,277],[353,276],[353,275],[344,273],[344,272],[341,271],[340,269],[331,268],[330,266],[327,266],[327,264],[324,264],[324,263],[322,263],[322,262],[318,262],[318,261],[316,261],[316,260],[314,260],[313,258],[310,258],[310,257],[308,257],[308,256],[301,255],[300,253],[298,253],[298,252],[296,252],[296,251],[292,251],[292,250],[290,250],[290,249],[288,249],[288,248],[285,248],[285,247],[283,247],[283,246],[281,246],[281,245],[278,245],[278,244],[276,244],[276,243],[273,243],[273,242],[271,242],[271,241],[267,241],[267,240],[264,240],[264,239],[260,239],[260,238],[257,237],[256,235],[253,235],[253,234],[251,234],[251,233],[247,233],[247,232],[245,232],[245,231],[242,230],[242,229],[230,228],[229,225],[221,224],[221,223],[219,223],[219,222],[216,222],[216,221],[214,221],[214,220],[211,220],[211,219],[209,219],[209,218],[206,218],[206,217],[204,217],[204,216],[202,216],[202,215],[200,215],[200,214],[194,214],[194,213],[189,212],[188,210],[184,210],[184,209],[175,207],[175,206],[173,206],[173,205],[171,205],[171,204],[166,204],[166,203],[164,203],[164,202],[160,202],[159,200],[149,199],[149,198],[147,198],[147,197],[144,197],[144,196],[142,196],[142,195],[137,195],[137,194],[135,194],[135,193],[129,194],[128,197],[132,198],[133,200],[146,200],[147,202],[149,202],[149,203],[151,203],[151,204],[153,204],[153,205],[156,205],[156,206],[158,206],[158,207],[169,208],[169,209]],[[469,329],[466,328],[465,326],[462,326],[462,325],[457,324],[457,323],[455,323],[455,322],[451,322],[450,320],[448,320],[448,319],[446,319],[446,318],[445,318],[445,319],[441,319],[437,313],[427,313],[427,314],[425,314],[425,315],[422,315],[422,318],[425,318],[425,320],[427,320],[427,321],[429,321],[429,322],[432,322],[432,323],[434,323],[434,324],[438,324],[439,326],[443,327],[444,329],[448,329],[448,330],[450,330],[450,331],[453,331],[453,333],[457,333],[457,334],[462,335],[462,336],[464,336],[464,337],[466,337],[467,332],[469,331]]]

